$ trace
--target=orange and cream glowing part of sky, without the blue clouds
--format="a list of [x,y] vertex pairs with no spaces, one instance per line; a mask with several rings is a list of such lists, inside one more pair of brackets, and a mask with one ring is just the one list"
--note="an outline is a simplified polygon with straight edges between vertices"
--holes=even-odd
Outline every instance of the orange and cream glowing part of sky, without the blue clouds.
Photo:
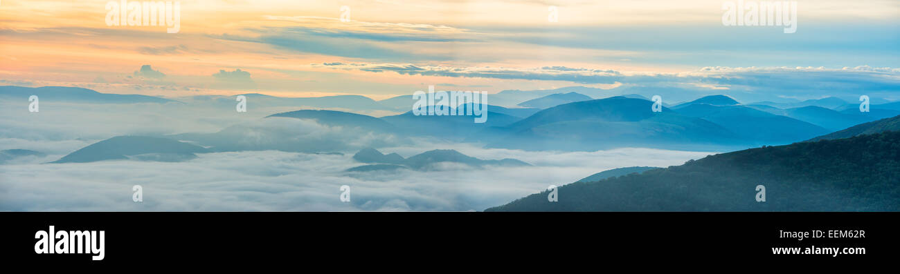
[[[486,89],[489,93],[554,88],[578,83],[401,75],[311,64],[691,71],[699,67],[635,61],[635,57],[653,58],[653,53],[642,50],[527,45],[515,40],[521,33],[480,30],[688,23],[720,27],[717,20],[723,1],[550,1],[558,6],[559,22],[547,22],[549,4],[539,1],[179,1],[178,33],[166,33],[163,26],[107,26],[107,2],[3,0],[0,79],[163,96],[357,93],[383,99],[428,84]],[[339,20],[342,5],[351,8],[350,22]],[[893,20],[898,15],[893,1],[817,1],[808,5],[807,11],[804,19],[809,20],[854,20],[863,16]],[[281,36],[272,38],[270,33]],[[307,40],[311,34],[327,39]],[[353,39],[342,39],[341,35],[352,35]],[[571,34],[548,32],[544,39],[553,40],[556,35]],[[285,37],[291,40],[282,41]],[[316,44],[304,44],[307,41]],[[136,75],[143,65],[166,76],[151,79]],[[220,70],[238,68],[250,74],[252,88],[231,89],[230,82],[217,83],[213,76]],[[602,87],[608,83],[581,85]]]

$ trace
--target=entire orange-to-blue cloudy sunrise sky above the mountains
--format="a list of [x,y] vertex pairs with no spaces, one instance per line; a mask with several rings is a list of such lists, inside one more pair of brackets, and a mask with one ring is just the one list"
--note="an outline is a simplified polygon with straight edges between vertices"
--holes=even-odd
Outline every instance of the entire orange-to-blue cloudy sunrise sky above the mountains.
[[737,1],[176,3],[168,33],[107,25],[108,1],[3,0],[0,84],[163,97],[582,85],[900,100],[898,1],[797,1],[794,33],[725,26],[723,6]]

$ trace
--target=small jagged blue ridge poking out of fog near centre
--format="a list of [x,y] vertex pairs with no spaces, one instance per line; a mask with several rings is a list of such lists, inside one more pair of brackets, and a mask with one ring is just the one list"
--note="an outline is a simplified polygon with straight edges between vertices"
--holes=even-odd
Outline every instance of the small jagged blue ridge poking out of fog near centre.
[[353,158],[356,159],[356,161],[368,164],[348,169],[348,172],[369,172],[396,169],[414,169],[419,171],[428,171],[435,168],[434,164],[439,163],[465,164],[471,167],[482,167],[487,165],[531,165],[516,159],[509,158],[502,160],[482,160],[469,155],[461,154],[453,149],[431,150],[404,159],[401,155],[383,155],[381,152],[374,148],[365,148],[356,153],[356,155],[353,155]]

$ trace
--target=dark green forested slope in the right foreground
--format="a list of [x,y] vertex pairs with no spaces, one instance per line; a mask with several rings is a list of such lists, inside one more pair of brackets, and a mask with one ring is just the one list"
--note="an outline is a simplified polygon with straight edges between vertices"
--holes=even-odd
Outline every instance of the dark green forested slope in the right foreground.
[[548,194],[487,211],[900,211],[900,132],[710,155]]

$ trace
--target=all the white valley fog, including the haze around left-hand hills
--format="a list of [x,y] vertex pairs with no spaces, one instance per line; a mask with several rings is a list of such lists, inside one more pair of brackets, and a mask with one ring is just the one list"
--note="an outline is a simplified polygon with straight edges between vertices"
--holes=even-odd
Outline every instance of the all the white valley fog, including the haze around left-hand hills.
[[[238,113],[233,99],[224,105],[187,102],[47,101],[41,102],[40,115],[23,110],[19,102],[0,102],[0,149],[48,154],[0,165],[0,211],[482,210],[610,168],[667,166],[708,154],[638,148],[592,153],[482,149],[431,138],[398,140],[304,119],[261,119],[279,110],[251,105],[248,112]],[[113,136],[217,132],[234,124],[243,125],[232,127],[243,128],[238,140],[243,144],[266,145],[281,138],[344,155],[265,150],[199,154],[182,163],[40,164]],[[516,158],[535,166],[344,172],[363,165],[352,155],[366,146],[407,157],[431,149],[457,149],[485,160]],[[144,188],[143,203],[131,201],[135,184]],[[351,186],[351,202],[340,201],[341,185]]]

